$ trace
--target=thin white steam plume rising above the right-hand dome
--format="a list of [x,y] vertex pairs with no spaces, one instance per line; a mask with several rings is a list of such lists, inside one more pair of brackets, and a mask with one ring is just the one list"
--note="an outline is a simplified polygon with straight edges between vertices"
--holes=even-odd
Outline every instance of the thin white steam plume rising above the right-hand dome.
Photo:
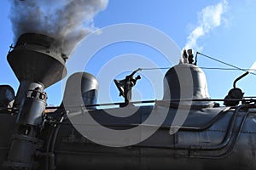
[[198,26],[187,37],[185,49],[196,48],[201,49],[197,45],[197,40],[205,36],[213,28],[220,26],[223,23],[223,14],[228,8],[226,0],[212,6],[203,8],[198,15]]

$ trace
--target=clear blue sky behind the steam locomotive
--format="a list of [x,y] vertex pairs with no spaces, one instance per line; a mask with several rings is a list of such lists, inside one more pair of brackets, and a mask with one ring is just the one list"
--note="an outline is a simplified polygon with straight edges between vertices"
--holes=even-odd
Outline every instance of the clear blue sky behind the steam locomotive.
[[[9,21],[10,5],[7,0],[3,0],[1,3],[4,8],[2,8],[0,12],[2,23],[0,32],[2,37],[2,41],[0,41],[0,83],[9,84],[15,88],[16,91],[19,82],[11,71],[6,59],[9,45],[14,42],[14,35]],[[224,3],[224,1],[109,0],[107,8],[96,14],[93,21],[94,26],[97,28],[104,28],[106,26],[123,23],[135,23],[143,26],[150,26],[165,33],[166,36],[171,37],[177,44],[177,47],[182,49],[187,44],[191,32],[195,31],[197,27],[202,26],[202,14],[204,9],[206,10],[207,7],[216,7],[218,3]],[[254,47],[256,39],[256,23],[254,22],[256,18],[255,8],[256,2],[253,0],[225,1],[224,11],[219,19],[220,23],[218,26],[212,26],[212,28],[208,29],[204,35],[197,38],[197,48],[195,48],[194,51],[210,55],[213,58],[223,60],[231,65],[236,65],[241,68],[250,68],[256,60]],[[208,21],[210,22],[211,20]],[[86,37],[84,39],[86,39]],[[86,43],[83,43],[83,41],[74,49],[70,59],[83,55],[85,53],[83,50],[90,48],[86,46]],[[123,56],[128,60],[124,63],[121,59],[117,65],[119,65],[119,67],[124,65],[125,69],[124,71],[116,72],[116,77],[113,78],[120,79],[124,77],[125,74],[130,73],[128,70],[132,71],[136,68],[137,65],[134,65],[134,63],[137,63],[138,65],[140,63],[137,56],[143,56],[143,59],[152,61],[152,63],[156,64],[158,67],[172,66],[166,62],[164,56],[158,51],[141,43],[121,42],[102,48],[95,54],[93,59],[90,59],[90,63],[85,66],[85,71],[88,71],[99,78],[100,92],[98,98],[101,103],[123,101],[123,99],[118,96],[119,92],[114,87],[113,82],[109,82],[108,79],[104,79],[104,77],[100,75],[101,71],[108,73],[108,71],[110,71],[109,69],[114,66],[111,65],[108,68],[109,61],[111,61],[111,59],[116,59],[117,57],[119,58],[120,56]],[[175,63],[173,63],[173,65],[174,64]],[[106,65],[106,70],[102,70],[102,67]],[[131,65],[131,67],[126,67],[127,65]],[[72,65],[72,67],[74,66],[75,65]],[[227,67],[226,65],[212,61],[203,56],[198,57],[198,66]],[[212,99],[224,99],[230,88],[232,88],[233,81],[243,73],[242,71],[204,71],[207,76],[208,91]],[[163,74],[165,72],[166,70],[162,71]],[[163,93],[162,82],[154,82],[155,72],[142,71],[139,72],[139,74],[146,76],[137,82],[134,100],[161,99]],[[107,84],[106,80],[108,80]],[[159,80],[156,79],[156,81]],[[154,93],[152,93],[152,85],[150,85],[150,82],[158,84],[157,89],[153,87]],[[46,89],[46,92],[49,95],[49,104],[59,105],[61,103],[61,93],[62,88],[65,86],[64,83],[64,81],[58,82]],[[237,87],[241,88],[245,95],[253,96],[256,95],[254,84],[256,84],[256,77],[251,74],[238,82]],[[106,91],[110,96],[109,98],[106,98],[106,94],[104,94]]]

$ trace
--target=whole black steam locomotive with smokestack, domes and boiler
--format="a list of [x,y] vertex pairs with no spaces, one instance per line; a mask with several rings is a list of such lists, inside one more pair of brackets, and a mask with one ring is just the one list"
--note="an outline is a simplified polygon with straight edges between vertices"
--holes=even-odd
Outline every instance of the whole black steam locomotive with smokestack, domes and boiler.
[[0,86],[1,169],[256,169],[255,100],[234,84],[218,105],[191,62],[166,72],[162,100],[132,102],[131,74],[115,81],[125,102],[99,109],[98,82],[86,72],[47,107],[44,88],[67,74],[53,38],[23,34],[7,59],[20,87]]

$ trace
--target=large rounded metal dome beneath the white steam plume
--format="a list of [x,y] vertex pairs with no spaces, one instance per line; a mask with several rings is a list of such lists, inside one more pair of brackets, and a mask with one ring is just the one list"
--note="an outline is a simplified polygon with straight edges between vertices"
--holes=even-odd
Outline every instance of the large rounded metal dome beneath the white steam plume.
[[[191,99],[210,99],[207,90],[205,73],[196,65],[179,64],[166,72],[164,78],[164,100],[170,100],[172,105],[202,105],[210,106],[209,101],[193,101]],[[186,101],[180,101],[186,100]]]

